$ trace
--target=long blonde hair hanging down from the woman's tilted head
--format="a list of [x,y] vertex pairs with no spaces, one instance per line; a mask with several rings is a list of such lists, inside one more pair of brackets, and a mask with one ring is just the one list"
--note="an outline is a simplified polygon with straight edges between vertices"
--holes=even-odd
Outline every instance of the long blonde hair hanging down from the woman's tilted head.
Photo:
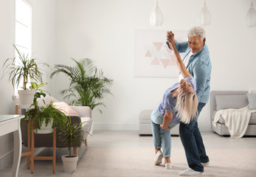
[[175,110],[181,122],[188,124],[191,119],[196,119],[197,107],[196,91],[178,95]]

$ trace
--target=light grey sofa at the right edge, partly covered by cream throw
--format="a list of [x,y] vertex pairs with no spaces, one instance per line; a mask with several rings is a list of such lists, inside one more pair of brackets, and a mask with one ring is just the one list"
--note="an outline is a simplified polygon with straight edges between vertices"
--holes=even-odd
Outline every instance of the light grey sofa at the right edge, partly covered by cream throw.
[[[221,136],[229,136],[228,128],[223,117],[218,121],[216,128],[212,125],[218,110],[226,108],[244,108],[249,104],[248,91],[211,91],[210,94],[210,122],[212,131]],[[256,113],[252,113],[245,136],[256,136]]]

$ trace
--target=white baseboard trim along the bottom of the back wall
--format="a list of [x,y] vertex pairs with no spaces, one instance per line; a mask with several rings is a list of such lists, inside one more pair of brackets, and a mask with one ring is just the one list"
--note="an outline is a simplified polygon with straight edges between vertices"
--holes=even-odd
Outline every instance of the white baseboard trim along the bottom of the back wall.
[[[200,131],[212,131],[211,126],[198,126]],[[138,124],[96,124],[94,123],[94,130],[99,131],[139,131]]]

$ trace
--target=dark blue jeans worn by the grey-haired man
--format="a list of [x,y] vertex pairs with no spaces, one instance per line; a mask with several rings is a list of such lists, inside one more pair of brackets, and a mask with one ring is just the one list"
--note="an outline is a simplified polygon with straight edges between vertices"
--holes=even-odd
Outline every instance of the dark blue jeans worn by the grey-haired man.
[[[204,108],[204,105],[205,103],[198,103],[198,116],[202,108]],[[189,124],[180,122],[179,135],[187,156],[188,166],[193,170],[204,172],[204,167],[201,165],[201,162],[209,162],[209,158],[205,152],[204,142],[198,129],[197,119],[198,117],[191,120]]]

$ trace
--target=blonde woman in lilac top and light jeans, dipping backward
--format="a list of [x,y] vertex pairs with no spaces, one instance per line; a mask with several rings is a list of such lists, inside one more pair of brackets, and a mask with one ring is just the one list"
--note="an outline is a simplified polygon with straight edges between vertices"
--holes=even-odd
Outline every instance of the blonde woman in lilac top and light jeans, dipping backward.
[[[196,96],[196,80],[187,71],[183,61],[176,49],[173,32],[167,32],[167,41],[172,47],[176,64],[182,79],[167,89],[162,101],[151,114],[151,127],[153,133],[153,144],[155,147],[155,164],[161,164],[165,158],[165,168],[170,170],[170,129],[183,122],[189,123],[196,118],[198,98]],[[161,150],[162,148],[162,150]]]

